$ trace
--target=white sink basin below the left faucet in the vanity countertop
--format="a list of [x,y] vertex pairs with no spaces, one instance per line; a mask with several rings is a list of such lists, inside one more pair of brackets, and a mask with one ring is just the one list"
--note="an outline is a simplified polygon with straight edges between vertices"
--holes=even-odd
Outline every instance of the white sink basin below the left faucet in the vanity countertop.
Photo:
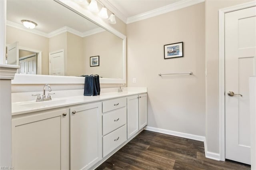
[[78,99],[53,99],[50,101],[34,101],[34,102],[26,102],[26,103],[20,103],[19,105],[22,107],[30,107],[30,108],[35,108],[35,107],[50,107],[54,105],[62,105],[62,104],[69,104],[69,103],[76,103],[79,102],[80,100]]

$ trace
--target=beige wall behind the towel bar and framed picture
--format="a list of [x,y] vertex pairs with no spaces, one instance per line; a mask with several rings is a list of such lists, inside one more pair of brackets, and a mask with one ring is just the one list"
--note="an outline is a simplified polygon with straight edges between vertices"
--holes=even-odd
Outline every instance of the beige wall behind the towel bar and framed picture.
[[[205,136],[204,20],[200,3],[127,25],[128,86],[148,87],[149,127]],[[175,42],[184,42],[184,57],[164,59]]]

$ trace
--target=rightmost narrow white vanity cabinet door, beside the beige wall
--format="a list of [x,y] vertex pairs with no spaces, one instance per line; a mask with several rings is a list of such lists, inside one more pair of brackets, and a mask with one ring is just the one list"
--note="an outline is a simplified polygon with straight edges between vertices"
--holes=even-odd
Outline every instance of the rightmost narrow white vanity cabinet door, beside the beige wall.
[[148,124],[147,94],[139,95],[139,130]]

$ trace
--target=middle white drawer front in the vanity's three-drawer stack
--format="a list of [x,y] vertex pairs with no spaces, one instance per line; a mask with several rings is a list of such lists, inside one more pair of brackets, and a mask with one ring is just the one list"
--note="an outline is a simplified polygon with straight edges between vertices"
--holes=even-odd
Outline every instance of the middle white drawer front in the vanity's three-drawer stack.
[[126,107],[106,113],[102,116],[102,134],[108,134],[126,124]]

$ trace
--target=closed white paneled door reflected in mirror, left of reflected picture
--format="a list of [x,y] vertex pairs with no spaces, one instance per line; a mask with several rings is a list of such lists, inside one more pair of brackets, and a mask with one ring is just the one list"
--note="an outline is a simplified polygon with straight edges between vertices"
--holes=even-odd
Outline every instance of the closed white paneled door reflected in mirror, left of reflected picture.
[[49,75],[64,75],[64,50],[49,53]]

